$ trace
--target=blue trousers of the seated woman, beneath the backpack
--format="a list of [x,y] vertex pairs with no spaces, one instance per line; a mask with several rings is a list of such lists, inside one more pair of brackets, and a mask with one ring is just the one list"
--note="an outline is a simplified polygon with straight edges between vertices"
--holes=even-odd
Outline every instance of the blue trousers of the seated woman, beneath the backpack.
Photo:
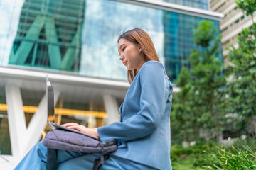
[[[83,152],[71,152],[58,150],[58,169],[92,169],[95,159],[100,158],[102,154],[85,154]],[[46,169],[47,147],[42,142],[38,142],[21,162],[16,166],[17,170]],[[100,167],[104,169],[153,169],[149,166],[132,162],[127,159],[111,155]]]

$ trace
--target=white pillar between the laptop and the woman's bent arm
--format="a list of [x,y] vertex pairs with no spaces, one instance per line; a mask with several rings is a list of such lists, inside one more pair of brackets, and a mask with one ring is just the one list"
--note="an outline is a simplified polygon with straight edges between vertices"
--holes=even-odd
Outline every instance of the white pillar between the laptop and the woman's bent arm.
[[117,99],[110,96],[110,94],[104,94],[103,101],[108,115],[107,124],[118,122],[120,119]]

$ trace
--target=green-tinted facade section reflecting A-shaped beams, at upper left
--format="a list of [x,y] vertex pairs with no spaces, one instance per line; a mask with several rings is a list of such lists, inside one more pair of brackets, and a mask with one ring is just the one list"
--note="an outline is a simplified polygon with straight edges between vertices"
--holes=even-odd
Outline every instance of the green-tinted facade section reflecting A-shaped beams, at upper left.
[[84,13],[84,0],[25,1],[9,64],[76,72]]

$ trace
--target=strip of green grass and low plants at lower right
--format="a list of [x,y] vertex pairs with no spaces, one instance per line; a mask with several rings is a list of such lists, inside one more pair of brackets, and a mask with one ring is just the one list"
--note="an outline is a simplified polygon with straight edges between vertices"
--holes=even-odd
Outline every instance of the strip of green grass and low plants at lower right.
[[241,140],[232,146],[171,147],[174,170],[256,170],[256,140]]

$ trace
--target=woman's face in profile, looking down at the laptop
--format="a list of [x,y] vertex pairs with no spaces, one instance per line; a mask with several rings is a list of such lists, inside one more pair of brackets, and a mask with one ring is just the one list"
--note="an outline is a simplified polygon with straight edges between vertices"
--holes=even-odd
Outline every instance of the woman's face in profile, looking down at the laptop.
[[139,69],[146,60],[144,59],[142,47],[129,40],[121,38],[118,42],[119,60],[127,67],[128,70]]

